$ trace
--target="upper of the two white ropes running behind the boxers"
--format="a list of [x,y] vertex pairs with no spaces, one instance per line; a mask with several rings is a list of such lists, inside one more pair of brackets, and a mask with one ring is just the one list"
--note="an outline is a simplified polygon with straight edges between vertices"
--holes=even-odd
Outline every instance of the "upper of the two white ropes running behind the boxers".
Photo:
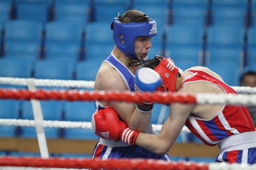
[[[93,89],[94,81],[65,81],[56,79],[35,79],[35,86],[55,86],[62,88],[88,88]],[[28,86],[27,79],[0,77],[0,84],[11,84],[19,86]],[[256,93],[256,88],[231,86],[237,93]]]

